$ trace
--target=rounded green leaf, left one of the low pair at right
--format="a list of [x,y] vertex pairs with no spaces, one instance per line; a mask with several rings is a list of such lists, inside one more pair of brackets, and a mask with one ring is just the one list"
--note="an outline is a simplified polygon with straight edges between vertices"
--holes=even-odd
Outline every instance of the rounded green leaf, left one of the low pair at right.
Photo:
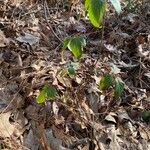
[[108,89],[112,85],[113,80],[114,80],[114,78],[112,75],[110,75],[110,74],[104,75],[99,83],[100,90]]

